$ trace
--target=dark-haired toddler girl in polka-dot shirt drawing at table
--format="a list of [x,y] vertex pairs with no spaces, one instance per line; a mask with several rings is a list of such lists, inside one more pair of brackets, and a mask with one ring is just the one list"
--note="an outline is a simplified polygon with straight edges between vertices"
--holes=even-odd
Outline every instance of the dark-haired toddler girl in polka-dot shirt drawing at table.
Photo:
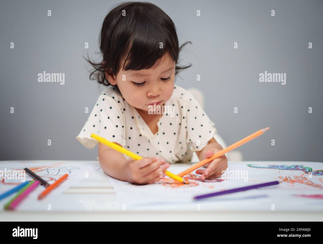
[[[170,163],[200,160],[222,150],[214,123],[193,95],[174,85],[179,47],[172,19],[147,2],[125,2],[105,17],[101,29],[102,62],[91,62],[99,84],[106,86],[76,137],[99,144],[99,163],[110,176],[131,183],[154,183]],[[91,133],[141,155],[132,160],[98,143]],[[191,149],[192,148],[192,149]],[[202,179],[217,178],[227,168],[225,156],[197,170]],[[162,172],[162,173],[161,173]]]

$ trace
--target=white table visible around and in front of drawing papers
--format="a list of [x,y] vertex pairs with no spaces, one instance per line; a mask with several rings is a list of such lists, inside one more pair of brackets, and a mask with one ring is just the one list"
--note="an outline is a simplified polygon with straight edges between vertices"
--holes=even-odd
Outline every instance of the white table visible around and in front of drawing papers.
[[[50,162],[54,163],[62,161]],[[98,161],[79,162],[80,164],[96,162],[99,166]],[[255,162],[245,161],[243,163]],[[276,162],[268,161],[267,163],[275,164]],[[285,163],[297,164],[298,162],[287,161]],[[99,169],[99,171],[102,170]],[[227,211],[223,209],[203,211],[194,208],[185,208],[183,206],[174,206],[170,210],[162,211],[122,210],[122,207],[116,201],[114,189],[108,181],[106,181],[103,186],[96,186],[98,181],[102,183],[102,178],[100,177],[103,177],[103,175],[101,175],[99,171],[96,172],[96,177],[91,177],[95,175],[95,173],[93,173],[88,179],[70,187],[68,190],[65,190],[58,199],[55,199],[57,202],[53,202],[51,210],[47,210],[46,205],[41,207],[42,210],[33,211],[4,211],[1,209],[0,218],[3,221],[175,221],[178,219],[183,221],[323,221],[323,208],[322,211],[315,212],[253,211],[252,209],[248,211]],[[316,201],[322,201],[323,206],[323,200]]]

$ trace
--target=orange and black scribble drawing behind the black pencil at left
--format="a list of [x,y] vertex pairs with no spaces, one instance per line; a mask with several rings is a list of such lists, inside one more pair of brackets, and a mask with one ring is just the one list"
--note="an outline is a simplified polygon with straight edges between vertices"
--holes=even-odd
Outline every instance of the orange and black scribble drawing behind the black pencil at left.
[[[32,172],[43,178],[48,183],[52,184],[56,180],[58,180],[62,175],[64,174],[70,174],[73,170],[78,170],[79,167],[73,167],[73,166],[64,166],[64,163],[57,163],[57,164],[51,164],[51,165],[42,165],[42,166],[36,166],[36,167],[21,167],[21,168],[11,168],[12,171],[14,170],[23,170],[24,168],[29,168]],[[19,175],[18,175],[19,176]],[[20,176],[23,177],[23,175],[20,173]],[[26,173],[26,180],[30,181],[33,178],[29,176]],[[2,184],[8,184],[8,185],[19,185],[21,182],[10,182],[9,179],[1,179],[0,183]]]

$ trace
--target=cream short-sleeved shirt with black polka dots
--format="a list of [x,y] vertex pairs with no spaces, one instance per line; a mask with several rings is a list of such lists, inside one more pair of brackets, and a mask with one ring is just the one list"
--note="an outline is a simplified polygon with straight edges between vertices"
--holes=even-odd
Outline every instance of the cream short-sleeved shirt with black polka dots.
[[164,105],[172,108],[165,108],[157,122],[158,132],[153,134],[118,89],[109,86],[99,96],[76,138],[94,148],[98,142],[90,136],[95,133],[142,157],[157,156],[169,163],[189,162],[192,152],[202,150],[214,137],[214,123],[193,95],[178,85]]

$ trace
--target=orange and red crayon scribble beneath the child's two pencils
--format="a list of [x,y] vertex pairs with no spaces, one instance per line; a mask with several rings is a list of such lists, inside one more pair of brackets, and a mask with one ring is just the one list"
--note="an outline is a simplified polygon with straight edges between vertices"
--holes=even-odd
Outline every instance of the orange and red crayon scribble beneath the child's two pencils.
[[[192,186],[197,186],[199,185],[198,181],[201,181],[202,183],[205,182],[222,182],[224,180],[222,179],[207,179],[207,180],[202,180],[200,176],[197,176],[196,174],[193,174],[192,172],[184,175],[182,178],[186,179],[188,181],[188,184],[183,184],[181,182],[178,182],[168,176],[165,176],[162,178],[160,181],[158,181],[158,184],[161,184],[166,187],[171,187],[171,188],[185,188],[185,187],[192,187]],[[211,187],[212,188],[212,187]]]

